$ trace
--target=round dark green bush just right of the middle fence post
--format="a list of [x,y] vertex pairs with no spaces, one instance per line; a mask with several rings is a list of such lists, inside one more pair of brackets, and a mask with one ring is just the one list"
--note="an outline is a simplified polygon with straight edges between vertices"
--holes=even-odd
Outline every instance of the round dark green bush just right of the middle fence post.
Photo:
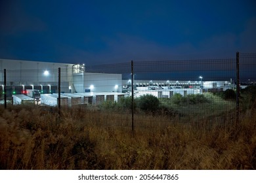
[[142,95],[138,99],[139,108],[146,112],[156,112],[158,110],[160,101],[154,95]]

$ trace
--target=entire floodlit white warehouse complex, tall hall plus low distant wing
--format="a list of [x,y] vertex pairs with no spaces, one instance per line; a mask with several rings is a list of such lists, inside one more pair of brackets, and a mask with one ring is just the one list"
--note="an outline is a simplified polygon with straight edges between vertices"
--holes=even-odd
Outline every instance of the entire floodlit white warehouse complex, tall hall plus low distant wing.
[[[60,68],[60,92],[63,105],[99,104],[111,99],[131,95],[131,80],[122,79],[121,74],[88,73],[85,64],[52,63],[0,59],[0,99],[3,99],[4,69],[7,75],[7,98],[26,94],[28,90],[39,90],[41,101],[47,105],[57,105],[58,68]],[[213,90],[224,91],[232,88],[232,81],[184,80],[134,80],[135,97],[151,94],[156,97],[172,97],[198,94]],[[20,97],[19,100],[22,103]],[[24,101],[25,102],[25,101]]]

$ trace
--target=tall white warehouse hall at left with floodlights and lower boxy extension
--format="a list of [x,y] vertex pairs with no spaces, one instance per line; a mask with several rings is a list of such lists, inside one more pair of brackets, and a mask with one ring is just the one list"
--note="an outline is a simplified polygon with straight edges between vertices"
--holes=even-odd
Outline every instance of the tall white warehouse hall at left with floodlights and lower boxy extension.
[[16,59],[0,59],[0,92],[3,94],[6,69],[7,97],[22,94],[28,89],[40,90],[41,93],[56,93],[58,68],[62,93],[121,92],[121,74],[86,73],[84,64]]

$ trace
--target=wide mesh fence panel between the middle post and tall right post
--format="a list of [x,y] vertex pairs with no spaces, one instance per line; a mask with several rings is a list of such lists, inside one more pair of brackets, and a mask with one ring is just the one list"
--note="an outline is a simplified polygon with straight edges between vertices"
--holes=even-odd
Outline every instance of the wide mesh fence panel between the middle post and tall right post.
[[235,59],[135,61],[134,67],[135,125],[211,127],[233,122]]

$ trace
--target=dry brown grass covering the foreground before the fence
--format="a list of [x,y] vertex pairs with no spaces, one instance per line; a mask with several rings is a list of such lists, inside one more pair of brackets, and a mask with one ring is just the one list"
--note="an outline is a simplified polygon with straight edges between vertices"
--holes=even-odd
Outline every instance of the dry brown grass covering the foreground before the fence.
[[126,113],[1,107],[0,169],[256,169],[255,118],[209,128],[145,115],[132,133]]

